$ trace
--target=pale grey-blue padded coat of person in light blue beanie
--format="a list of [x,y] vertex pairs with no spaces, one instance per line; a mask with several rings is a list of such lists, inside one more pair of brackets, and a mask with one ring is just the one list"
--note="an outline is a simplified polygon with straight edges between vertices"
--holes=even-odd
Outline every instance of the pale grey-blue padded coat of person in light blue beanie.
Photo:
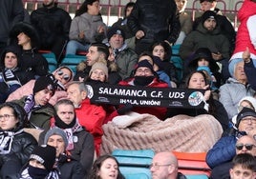
[[255,90],[249,85],[244,85],[234,78],[228,78],[226,83],[220,87],[219,101],[224,105],[224,109],[228,114],[228,119],[238,114],[238,103],[245,96],[253,96]]

